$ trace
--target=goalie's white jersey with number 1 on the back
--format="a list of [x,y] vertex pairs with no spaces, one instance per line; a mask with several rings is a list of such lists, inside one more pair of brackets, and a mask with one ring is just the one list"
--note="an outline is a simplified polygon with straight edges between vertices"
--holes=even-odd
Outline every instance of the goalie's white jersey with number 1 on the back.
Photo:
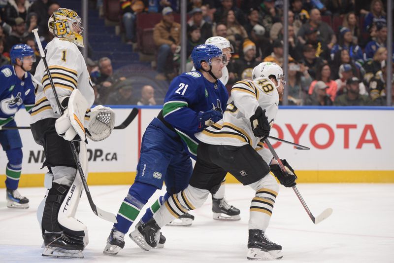
[[[78,89],[90,108],[95,100],[95,94],[85,60],[78,47],[68,40],[55,37],[46,46],[45,53],[59,101],[70,96],[74,89]],[[60,113],[43,60],[38,63],[33,82],[36,86],[35,104],[30,123],[45,118],[59,118]],[[89,114],[85,116],[86,118],[89,118]]]

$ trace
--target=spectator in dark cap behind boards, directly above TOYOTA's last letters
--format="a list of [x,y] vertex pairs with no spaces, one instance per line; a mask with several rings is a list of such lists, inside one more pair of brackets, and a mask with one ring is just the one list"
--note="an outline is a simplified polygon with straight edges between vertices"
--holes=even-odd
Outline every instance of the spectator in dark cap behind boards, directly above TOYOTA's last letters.
[[351,77],[346,81],[346,92],[335,98],[335,106],[367,106],[371,104],[368,95],[360,94],[361,80],[358,77]]

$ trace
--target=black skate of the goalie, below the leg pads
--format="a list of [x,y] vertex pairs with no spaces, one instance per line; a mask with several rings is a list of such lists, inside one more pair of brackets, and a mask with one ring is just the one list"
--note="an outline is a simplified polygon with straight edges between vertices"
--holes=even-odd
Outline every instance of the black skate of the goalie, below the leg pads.
[[83,258],[82,250],[85,246],[82,237],[65,233],[45,233],[44,245],[45,249],[42,253],[44,257]]

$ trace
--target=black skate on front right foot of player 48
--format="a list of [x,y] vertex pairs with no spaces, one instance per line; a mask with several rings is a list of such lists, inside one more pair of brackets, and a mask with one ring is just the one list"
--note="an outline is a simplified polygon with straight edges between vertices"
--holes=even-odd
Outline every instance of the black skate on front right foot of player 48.
[[249,229],[248,260],[279,260],[282,246],[275,244],[260,229]]

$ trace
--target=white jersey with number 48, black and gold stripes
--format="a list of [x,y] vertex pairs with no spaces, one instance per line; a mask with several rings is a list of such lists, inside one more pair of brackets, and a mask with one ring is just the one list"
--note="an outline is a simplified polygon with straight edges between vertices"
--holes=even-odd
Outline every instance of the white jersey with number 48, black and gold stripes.
[[[231,102],[223,114],[223,119],[196,134],[201,142],[211,145],[243,146],[249,144],[261,150],[261,138],[254,136],[250,117],[260,106],[272,126],[278,112],[279,93],[268,78],[241,80],[231,88]],[[272,155],[271,155],[272,156]],[[264,158],[265,159],[265,158]]]

